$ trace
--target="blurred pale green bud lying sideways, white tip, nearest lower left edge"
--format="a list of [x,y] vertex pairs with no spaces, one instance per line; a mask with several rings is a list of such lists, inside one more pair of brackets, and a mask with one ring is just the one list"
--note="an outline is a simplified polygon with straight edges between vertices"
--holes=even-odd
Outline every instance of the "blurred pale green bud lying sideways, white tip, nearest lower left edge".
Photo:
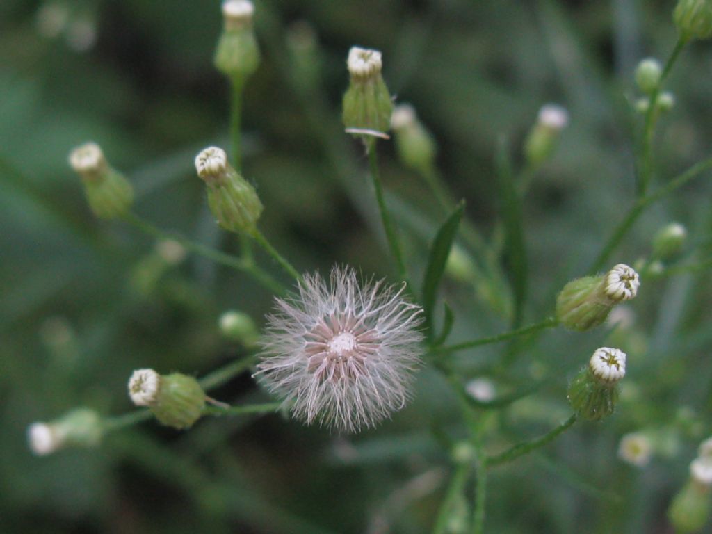
[[73,409],[61,419],[33,423],[27,429],[30,449],[38,456],[46,456],[68,446],[96,446],[102,434],[99,414],[88,408]]

